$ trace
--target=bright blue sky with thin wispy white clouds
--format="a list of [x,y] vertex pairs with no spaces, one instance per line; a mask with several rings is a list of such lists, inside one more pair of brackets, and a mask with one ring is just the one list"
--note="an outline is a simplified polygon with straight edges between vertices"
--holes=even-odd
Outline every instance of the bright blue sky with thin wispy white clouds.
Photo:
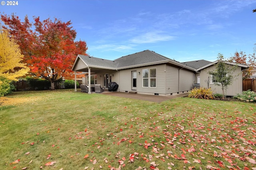
[[[4,0],[7,2],[6,0]],[[175,59],[215,61],[253,52],[256,0],[18,0],[0,13],[71,20],[93,57],[114,60],[146,49]]]

